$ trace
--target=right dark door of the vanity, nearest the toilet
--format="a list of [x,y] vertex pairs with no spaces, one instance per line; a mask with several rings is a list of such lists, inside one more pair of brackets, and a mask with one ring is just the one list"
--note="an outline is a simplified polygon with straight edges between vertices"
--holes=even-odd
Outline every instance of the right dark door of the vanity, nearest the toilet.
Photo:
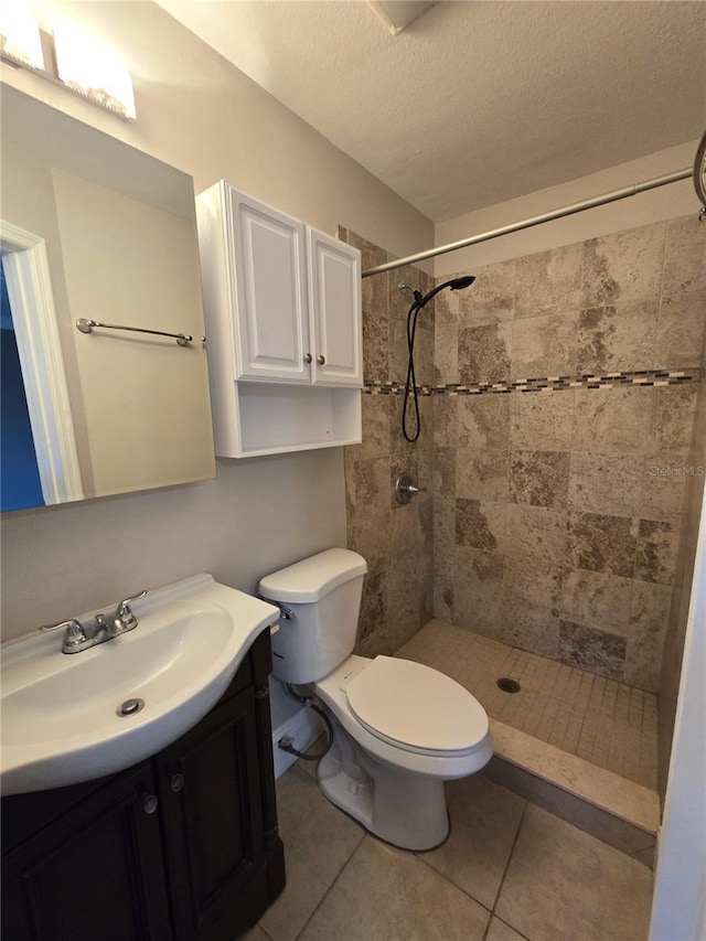
[[178,941],[233,941],[268,905],[255,693],[157,757]]

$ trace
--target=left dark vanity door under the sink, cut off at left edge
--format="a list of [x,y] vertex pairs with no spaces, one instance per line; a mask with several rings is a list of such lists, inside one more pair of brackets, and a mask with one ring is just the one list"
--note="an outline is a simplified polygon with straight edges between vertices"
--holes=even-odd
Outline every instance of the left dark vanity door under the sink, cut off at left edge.
[[2,937],[172,938],[149,764],[117,776],[3,857]]

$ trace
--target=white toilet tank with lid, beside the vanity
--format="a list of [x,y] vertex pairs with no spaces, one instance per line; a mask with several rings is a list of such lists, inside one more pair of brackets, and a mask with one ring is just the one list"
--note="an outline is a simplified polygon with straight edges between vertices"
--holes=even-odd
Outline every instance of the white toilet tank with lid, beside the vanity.
[[327,549],[263,578],[259,594],[285,613],[272,635],[272,673],[285,683],[315,683],[355,646],[367,564],[350,549]]

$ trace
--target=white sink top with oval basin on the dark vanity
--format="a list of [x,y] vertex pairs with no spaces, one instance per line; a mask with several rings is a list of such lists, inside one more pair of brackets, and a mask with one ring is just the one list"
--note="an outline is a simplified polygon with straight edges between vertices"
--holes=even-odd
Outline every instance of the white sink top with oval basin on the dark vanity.
[[[132,611],[135,630],[81,653],[61,652],[61,630],[2,648],[3,794],[89,781],[154,755],[218,702],[279,617],[211,575],[150,591]],[[127,699],[145,705],[119,715]]]

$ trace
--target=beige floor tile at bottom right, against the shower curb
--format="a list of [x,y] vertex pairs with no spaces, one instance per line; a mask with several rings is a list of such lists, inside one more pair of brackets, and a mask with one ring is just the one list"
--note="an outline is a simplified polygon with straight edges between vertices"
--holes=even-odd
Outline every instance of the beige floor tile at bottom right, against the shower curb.
[[530,804],[495,912],[533,939],[644,941],[651,897],[646,866]]

